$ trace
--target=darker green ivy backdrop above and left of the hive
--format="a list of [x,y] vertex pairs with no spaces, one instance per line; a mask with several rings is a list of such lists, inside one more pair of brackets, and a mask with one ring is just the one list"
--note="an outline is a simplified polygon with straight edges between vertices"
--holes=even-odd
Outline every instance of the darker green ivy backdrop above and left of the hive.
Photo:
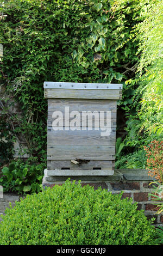
[[[20,112],[9,123],[26,142],[27,153],[40,161],[46,158],[44,81],[124,83],[134,74],[129,76],[125,66],[139,59],[138,42],[116,49],[130,40],[139,8],[136,12],[136,2],[121,2],[115,11],[114,2],[1,0],[1,79]],[[130,94],[133,90],[124,88],[127,106]]]

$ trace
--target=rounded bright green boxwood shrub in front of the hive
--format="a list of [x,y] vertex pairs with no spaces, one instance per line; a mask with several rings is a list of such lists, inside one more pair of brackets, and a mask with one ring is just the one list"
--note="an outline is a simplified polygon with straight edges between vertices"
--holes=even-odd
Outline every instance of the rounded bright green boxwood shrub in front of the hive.
[[27,195],[7,209],[1,245],[153,245],[155,229],[130,199],[80,182]]

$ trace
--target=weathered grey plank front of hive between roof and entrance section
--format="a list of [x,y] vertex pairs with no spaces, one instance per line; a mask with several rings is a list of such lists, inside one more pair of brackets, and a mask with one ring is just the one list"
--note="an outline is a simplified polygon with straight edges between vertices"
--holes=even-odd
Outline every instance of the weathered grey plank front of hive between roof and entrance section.
[[[83,123],[80,119],[78,126],[75,128],[71,125],[70,127],[63,125],[63,127],[58,127],[58,130],[56,127],[53,130],[53,113],[60,111],[62,113],[61,118],[65,118],[65,115],[67,115],[64,112],[65,106],[68,107],[68,112],[78,111],[79,114],[83,114],[83,111],[98,113],[109,111],[111,112],[111,122],[109,125],[107,122],[105,123],[106,115],[104,115],[103,124],[104,126],[107,124],[107,127],[99,127],[99,124],[91,127],[90,123],[82,127]],[[48,160],[115,159],[116,100],[48,99],[48,125]],[[93,127],[94,129],[92,129]],[[103,136],[106,129],[110,131],[110,134]]]

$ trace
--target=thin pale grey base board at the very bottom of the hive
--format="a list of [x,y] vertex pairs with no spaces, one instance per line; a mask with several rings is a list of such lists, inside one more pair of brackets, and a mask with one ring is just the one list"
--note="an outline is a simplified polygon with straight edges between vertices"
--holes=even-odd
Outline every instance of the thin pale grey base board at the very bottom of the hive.
[[48,170],[48,176],[109,176],[114,170]]

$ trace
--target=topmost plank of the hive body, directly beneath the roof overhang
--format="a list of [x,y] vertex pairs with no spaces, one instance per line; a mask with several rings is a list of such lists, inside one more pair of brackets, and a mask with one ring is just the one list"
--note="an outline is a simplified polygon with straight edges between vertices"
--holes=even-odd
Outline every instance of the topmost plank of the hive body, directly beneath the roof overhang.
[[[66,107],[66,108],[65,108]],[[48,99],[48,111],[111,111],[116,113],[116,100],[92,100],[92,99]]]

